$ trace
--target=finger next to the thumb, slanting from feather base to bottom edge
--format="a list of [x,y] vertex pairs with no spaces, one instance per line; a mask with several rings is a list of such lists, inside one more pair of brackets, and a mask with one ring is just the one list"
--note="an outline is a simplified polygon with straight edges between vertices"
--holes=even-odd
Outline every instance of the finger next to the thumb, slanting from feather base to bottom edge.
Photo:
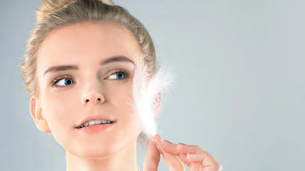
[[155,143],[159,147],[159,150],[163,156],[163,159],[169,168],[170,171],[185,171],[185,167],[182,161],[175,155],[167,153],[165,149],[162,147],[163,140],[161,139],[160,135],[157,134],[154,136]]

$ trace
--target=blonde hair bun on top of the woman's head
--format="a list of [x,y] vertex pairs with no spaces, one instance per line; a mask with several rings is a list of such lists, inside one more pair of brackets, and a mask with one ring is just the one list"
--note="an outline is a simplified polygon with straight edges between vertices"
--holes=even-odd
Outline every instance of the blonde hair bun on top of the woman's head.
[[[53,11],[63,8],[65,5],[76,1],[97,1],[97,0],[42,0],[39,8],[36,10],[36,22],[41,22],[45,16]],[[104,4],[114,5],[112,0],[99,0]]]

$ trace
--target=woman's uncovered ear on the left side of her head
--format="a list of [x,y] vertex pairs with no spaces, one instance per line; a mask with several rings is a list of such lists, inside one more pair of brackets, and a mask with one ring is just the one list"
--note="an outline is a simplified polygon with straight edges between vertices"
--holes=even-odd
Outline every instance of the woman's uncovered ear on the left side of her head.
[[35,97],[31,97],[31,100],[29,101],[29,113],[31,113],[38,129],[46,133],[50,132],[49,125],[46,119],[42,116],[42,109]]

